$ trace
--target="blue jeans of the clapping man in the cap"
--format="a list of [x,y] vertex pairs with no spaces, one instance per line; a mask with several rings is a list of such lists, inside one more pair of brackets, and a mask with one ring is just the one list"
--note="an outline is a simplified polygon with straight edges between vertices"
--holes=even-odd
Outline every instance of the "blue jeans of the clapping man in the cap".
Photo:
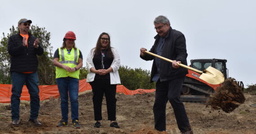
[[12,71],[11,77],[13,84],[11,96],[12,120],[19,120],[20,97],[25,83],[30,94],[30,118],[36,119],[40,108],[37,71],[31,74]]

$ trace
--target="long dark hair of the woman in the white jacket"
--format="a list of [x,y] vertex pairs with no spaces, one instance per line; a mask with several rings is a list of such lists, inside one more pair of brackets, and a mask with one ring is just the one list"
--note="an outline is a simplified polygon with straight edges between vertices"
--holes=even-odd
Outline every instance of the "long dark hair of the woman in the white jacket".
[[114,55],[113,55],[113,52],[111,50],[111,46],[110,46],[110,36],[109,34],[103,32],[102,34],[100,34],[99,38],[98,38],[98,41],[97,41],[97,44],[96,44],[96,47],[95,47],[95,50],[94,50],[94,57],[98,56],[101,54],[102,50],[101,50],[101,47],[102,47],[102,44],[101,44],[101,38],[103,35],[107,35],[108,38],[109,38],[109,42],[108,42],[108,45],[106,46],[106,50],[107,50],[107,57],[108,58],[114,58]]

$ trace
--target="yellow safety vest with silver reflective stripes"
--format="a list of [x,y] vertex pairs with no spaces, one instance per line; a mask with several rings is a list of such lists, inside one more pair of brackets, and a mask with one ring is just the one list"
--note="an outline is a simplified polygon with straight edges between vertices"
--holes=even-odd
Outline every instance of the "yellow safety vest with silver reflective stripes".
[[[79,49],[72,48],[70,54],[67,53],[66,47],[64,49],[59,48],[59,62],[68,67],[76,67],[78,65]],[[56,78],[72,77],[79,79],[80,69],[77,71],[69,72],[62,67],[56,67]]]

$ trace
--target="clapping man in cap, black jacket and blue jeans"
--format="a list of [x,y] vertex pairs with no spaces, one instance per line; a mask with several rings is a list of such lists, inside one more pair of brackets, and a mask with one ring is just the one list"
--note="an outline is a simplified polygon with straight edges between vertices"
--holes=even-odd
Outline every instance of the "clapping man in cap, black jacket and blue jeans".
[[42,126],[42,124],[37,120],[40,108],[37,55],[42,55],[44,50],[40,46],[39,39],[29,33],[31,23],[31,20],[19,20],[19,33],[10,36],[8,41],[7,49],[8,53],[11,55],[10,72],[13,84],[11,96],[13,126],[18,126],[20,122],[20,97],[25,83],[30,94],[29,121],[33,122],[36,126]]

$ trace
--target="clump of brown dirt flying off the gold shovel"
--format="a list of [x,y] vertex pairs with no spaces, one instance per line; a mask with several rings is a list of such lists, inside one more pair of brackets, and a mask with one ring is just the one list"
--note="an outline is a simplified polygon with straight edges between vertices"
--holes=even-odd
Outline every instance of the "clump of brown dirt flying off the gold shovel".
[[206,107],[210,105],[213,109],[222,109],[224,112],[230,113],[243,104],[244,101],[242,87],[238,85],[234,78],[230,78],[225,80],[222,86],[218,87],[216,92],[210,96]]

